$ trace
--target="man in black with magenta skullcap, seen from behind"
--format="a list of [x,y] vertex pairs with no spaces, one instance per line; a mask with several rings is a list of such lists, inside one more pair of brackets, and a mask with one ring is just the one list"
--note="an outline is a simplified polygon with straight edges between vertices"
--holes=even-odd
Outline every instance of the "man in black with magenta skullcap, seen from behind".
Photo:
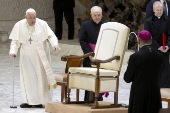
[[151,47],[152,36],[143,30],[138,35],[139,51],[129,58],[124,80],[132,82],[128,113],[158,113],[162,108],[160,78],[164,56]]

